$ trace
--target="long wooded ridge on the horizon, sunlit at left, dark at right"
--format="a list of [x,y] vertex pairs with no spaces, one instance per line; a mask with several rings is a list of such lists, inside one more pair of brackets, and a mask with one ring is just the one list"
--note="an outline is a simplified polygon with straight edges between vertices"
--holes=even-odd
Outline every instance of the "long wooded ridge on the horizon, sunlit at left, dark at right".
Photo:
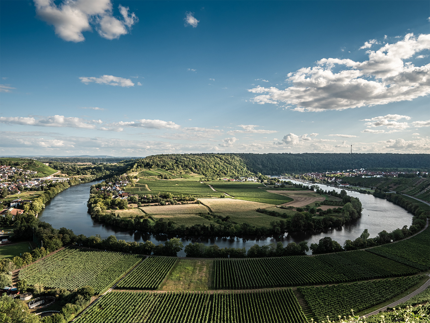
[[355,168],[429,168],[429,154],[170,154],[136,162],[136,169],[163,168],[175,174],[206,177],[300,174]]

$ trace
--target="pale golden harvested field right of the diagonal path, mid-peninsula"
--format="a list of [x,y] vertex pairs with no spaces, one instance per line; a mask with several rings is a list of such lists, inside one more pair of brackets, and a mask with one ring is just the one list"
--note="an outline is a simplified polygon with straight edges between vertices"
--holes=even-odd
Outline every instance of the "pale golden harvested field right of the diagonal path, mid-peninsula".
[[273,205],[237,199],[199,199],[201,203],[208,206],[212,212],[243,212],[258,208],[273,208]]

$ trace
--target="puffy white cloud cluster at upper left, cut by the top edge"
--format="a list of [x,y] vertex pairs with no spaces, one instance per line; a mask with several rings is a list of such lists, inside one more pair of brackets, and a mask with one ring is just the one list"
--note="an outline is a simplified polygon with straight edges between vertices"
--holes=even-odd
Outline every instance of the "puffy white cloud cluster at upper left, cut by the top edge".
[[132,25],[138,22],[134,12],[119,5],[122,19],[112,13],[111,0],[64,0],[58,6],[53,0],[34,0],[37,15],[49,25],[53,25],[55,34],[63,40],[80,42],[85,40],[83,31],[91,31],[93,25],[101,37],[119,38],[128,34]]

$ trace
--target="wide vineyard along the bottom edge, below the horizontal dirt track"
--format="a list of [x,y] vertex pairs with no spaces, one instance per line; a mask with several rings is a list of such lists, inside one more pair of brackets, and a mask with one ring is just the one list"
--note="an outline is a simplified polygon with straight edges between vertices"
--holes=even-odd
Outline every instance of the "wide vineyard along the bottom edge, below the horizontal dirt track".
[[291,289],[260,292],[110,292],[76,323],[307,322]]

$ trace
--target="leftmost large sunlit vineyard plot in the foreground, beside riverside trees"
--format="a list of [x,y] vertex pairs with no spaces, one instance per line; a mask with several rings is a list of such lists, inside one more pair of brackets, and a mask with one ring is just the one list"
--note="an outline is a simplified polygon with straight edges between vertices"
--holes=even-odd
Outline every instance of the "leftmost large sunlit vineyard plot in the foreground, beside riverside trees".
[[141,260],[140,255],[68,247],[23,268],[19,279],[68,290],[89,285],[100,293]]

